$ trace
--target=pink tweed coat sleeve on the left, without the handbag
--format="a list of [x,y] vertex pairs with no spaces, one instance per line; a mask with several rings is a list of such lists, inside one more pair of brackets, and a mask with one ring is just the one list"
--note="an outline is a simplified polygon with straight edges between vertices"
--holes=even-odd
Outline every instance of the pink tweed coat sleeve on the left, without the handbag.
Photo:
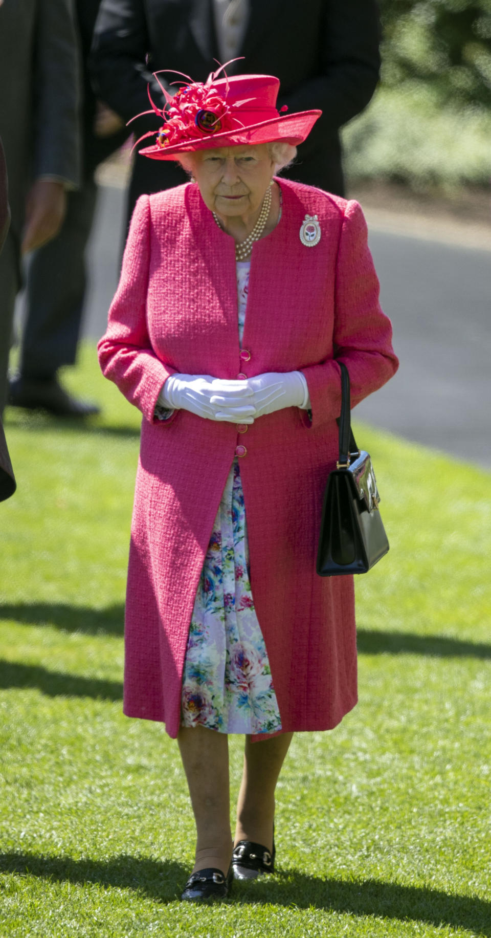
[[[97,352],[103,375],[153,422],[160,388],[175,369],[167,368],[156,356],[148,335],[149,265],[150,199],[142,195],[133,212],[121,278],[109,310],[108,328],[98,342]],[[171,420],[172,417],[161,421],[162,426],[168,426]]]

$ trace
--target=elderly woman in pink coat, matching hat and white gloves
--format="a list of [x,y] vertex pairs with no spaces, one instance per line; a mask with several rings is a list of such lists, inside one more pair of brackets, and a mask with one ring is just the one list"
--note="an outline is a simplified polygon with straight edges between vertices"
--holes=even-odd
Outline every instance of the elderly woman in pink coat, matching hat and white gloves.
[[[276,173],[319,111],[242,75],[169,98],[153,159],[191,182],[141,196],[102,371],[142,412],[126,594],[125,713],[177,737],[197,826],[185,900],[274,870],[275,785],[298,731],[357,700],[352,578],[316,574],[354,403],[397,367],[360,206]],[[228,740],[245,734],[231,840]]]

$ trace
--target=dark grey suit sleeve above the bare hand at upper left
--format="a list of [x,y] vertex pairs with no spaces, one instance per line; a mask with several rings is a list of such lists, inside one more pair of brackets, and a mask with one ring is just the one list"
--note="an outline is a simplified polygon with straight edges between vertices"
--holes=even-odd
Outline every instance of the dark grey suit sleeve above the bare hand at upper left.
[[71,0],[39,0],[33,73],[34,175],[80,184],[80,73]]

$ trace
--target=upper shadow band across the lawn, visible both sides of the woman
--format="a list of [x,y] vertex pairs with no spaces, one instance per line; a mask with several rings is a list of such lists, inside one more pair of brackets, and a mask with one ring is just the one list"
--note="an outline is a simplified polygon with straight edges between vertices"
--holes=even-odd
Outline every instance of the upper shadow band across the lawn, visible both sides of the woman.
[[[64,603],[12,603],[0,605],[0,621],[12,619],[29,626],[52,626],[87,635],[123,635],[125,607],[91,609]],[[435,658],[491,658],[491,644],[461,642],[443,635],[383,632],[358,629],[361,655],[427,655]]]

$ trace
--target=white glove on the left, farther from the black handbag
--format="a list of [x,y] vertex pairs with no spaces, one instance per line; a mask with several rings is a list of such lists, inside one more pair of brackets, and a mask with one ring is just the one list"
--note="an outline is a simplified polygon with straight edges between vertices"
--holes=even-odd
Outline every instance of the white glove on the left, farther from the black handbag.
[[209,374],[171,374],[160,390],[161,407],[183,408],[207,420],[253,423],[253,391],[243,381],[212,378]]

